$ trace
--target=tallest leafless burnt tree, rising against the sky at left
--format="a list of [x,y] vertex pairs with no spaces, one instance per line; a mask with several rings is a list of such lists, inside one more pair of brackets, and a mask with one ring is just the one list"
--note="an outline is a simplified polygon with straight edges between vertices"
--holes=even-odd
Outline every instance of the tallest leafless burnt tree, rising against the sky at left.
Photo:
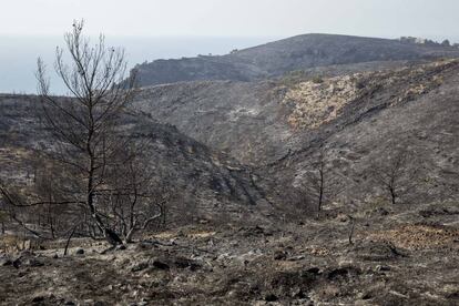
[[[38,60],[37,79],[43,123],[54,140],[50,159],[68,169],[72,178],[63,188],[69,203],[83,205],[94,225],[112,244],[121,238],[100,212],[99,190],[106,184],[108,169],[123,163],[120,151],[130,141],[120,137],[120,121],[132,101],[133,80],[123,82],[126,61],[122,49],[106,48],[101,35],[96,44],[82,35],[83,21],[74,21],[57,48],[54,69],[69,94],[53,96],[45,67]],[[64,55],[65,54],[65,55]]]

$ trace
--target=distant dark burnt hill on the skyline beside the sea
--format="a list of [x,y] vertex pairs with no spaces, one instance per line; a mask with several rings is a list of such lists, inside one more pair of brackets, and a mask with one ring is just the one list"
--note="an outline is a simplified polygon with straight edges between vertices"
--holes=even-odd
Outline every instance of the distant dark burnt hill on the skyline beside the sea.
[[459,57],[459,50],[388,39],[305,34],[221,57],[157,60],[135,70],[140,85],[145,86],[200,80],[253,81],[317,67],[440,57]]

